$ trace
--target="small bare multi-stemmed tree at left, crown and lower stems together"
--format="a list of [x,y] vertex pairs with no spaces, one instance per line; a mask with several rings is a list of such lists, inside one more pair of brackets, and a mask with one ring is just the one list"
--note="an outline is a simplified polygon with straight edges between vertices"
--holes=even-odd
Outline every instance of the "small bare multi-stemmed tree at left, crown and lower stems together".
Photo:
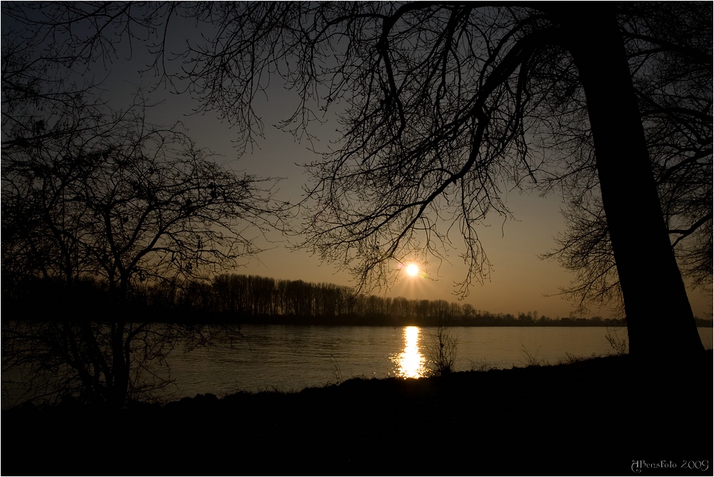
[[[261,234],[275,211],[265,182],[221,168],[185,135],[132,114],[9,146],[2,184],[4,276],[29,287],[36,278],[61,283],[71,309],[57,303],[58,310],[72,317],[11,323],[4,364],[36,368],[47,383],[73,371],[55,392],[79,386],[87,400],[117,406],[165,384],[141,378],[157,376],[146,371],[180,339],[206,340],[200,327],[129,316],[131,293],[143,283],[188,283],[233,268],[258,253],[246,234]],[[81,313],[79,287],[88,279],[110,299]]]

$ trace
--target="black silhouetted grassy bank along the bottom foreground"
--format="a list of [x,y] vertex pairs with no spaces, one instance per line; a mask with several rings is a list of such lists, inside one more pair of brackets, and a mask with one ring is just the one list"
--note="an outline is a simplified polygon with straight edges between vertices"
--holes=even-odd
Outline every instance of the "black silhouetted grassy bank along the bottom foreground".
[[[713,475],[712,353],[2,411],[3,475]],[[703,461],[707,469],[701,470]]]

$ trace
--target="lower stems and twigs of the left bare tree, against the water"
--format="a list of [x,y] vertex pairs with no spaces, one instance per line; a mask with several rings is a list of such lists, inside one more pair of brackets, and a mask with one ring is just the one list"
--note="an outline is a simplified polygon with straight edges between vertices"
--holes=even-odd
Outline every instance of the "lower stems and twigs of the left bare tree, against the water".
[[226,326],[184,323],[76,317],[8,321],[2,338],[4,386],[12,403],[72,397],[121,408],[131,401],[161,400],[171,395],[174,382],[169,353],[209,346],[218,333],[239,336]]

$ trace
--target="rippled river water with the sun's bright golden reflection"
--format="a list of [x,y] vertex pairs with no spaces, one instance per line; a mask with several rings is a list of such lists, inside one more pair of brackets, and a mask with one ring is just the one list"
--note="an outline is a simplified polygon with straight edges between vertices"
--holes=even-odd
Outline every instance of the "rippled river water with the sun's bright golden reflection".
[[[361,376],[421,377],[428,370],[426,345],[436,328],[388,326],[250,325],[242,338],[218,337],[212,346],[183,352],[177,346],[156,369],[173,384],[163,398],[238,391],[299,391]],[[456,370],[556,364],[570,358],[613,353],[605,327],[457,327]],[[609,333],[623,336],[624,329]],[[699,328],[713,348],[712,328]],[[154,371],[154,370],[152,370]],[[3,374],[2,408],[18,402]]]

